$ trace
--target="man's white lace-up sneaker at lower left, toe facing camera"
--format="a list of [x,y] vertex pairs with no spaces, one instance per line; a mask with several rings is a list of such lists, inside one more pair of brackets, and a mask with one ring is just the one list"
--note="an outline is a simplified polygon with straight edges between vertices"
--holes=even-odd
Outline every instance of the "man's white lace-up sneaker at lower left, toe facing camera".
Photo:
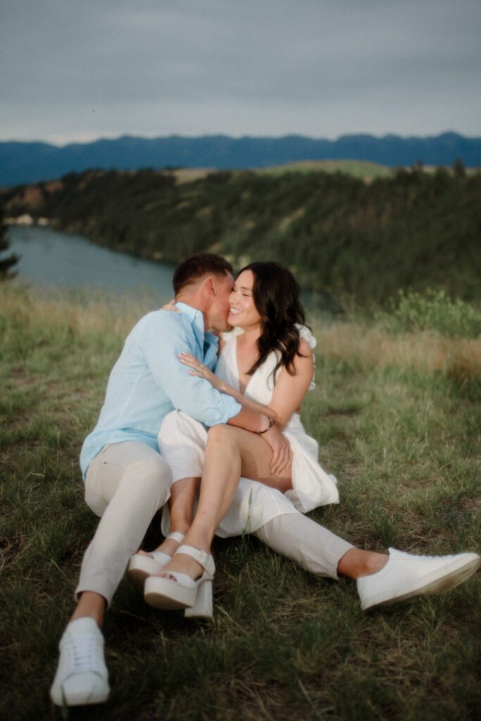
[[91,618],[69,623],[60,641],[60,658],[50,698],[57,706],[107,701],[110,687],[104,660],[104,638]]

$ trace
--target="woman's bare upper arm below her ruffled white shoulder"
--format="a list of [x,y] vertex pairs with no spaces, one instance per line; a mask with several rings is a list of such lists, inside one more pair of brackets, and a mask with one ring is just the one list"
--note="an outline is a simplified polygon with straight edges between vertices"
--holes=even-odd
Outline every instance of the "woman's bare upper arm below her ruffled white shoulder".
[[278,425],[284,428],[293,413],[299,412],[302,399],[306,395],[314,376],[314,356],[309,343],[301,338],[299,353],[294,358],[295,375],[290,376],[286,368],[282,368],[275,384],[270,408],[278,417]]

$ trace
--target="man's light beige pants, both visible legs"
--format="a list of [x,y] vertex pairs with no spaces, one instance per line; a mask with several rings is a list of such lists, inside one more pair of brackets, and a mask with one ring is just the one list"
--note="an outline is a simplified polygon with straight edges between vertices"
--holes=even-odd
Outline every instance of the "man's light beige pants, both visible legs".
[[[100,593],[110,604],[128,559],[141,545],[156,510],[167,503],[172,475],[144,443],[112,443],[89,465],[87,505],[101,516],[84,555],[76,596]],[[337,564],[353,546],[299,512],[283,513],[253,532],[273,551],[316,575],[337,578]]]

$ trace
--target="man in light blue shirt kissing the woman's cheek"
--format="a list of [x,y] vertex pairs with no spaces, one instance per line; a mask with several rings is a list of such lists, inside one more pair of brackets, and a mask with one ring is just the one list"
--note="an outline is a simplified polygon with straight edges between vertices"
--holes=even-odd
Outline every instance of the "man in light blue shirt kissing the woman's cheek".
[[[191,376],[178,361],[178,354],[190,353],[213,368],[217,340],[206,331],[210,327],[227,329],[232,283],[231,266],[219,256],[200,254],[182,263],[174,275],[180,313],[155,311],[141,319],[112,369],[99,421],[81,452],[86,500],[101,520],[84,556],[76,590],[78,604],[60,644],[58,671],[50,691],[56,704],[98,703],[109,694],[100,626],[128,559],[141,544],[155,511],[169,497],[171,474],[157,446],[167,413],[176,408],[204,425],[221,424],[215,442],[222,448],[229,432],[225,424],[261,433],[272,449],[271,468],[281,473],[290,466],[288,442],[272,419],[219,394],[207,381]],[[226,508],[230,503],[226,499],[234,497],[238,482],[235,474],[229,479],[231,454],[239,448],[229,446],[228,451],[221,488]],[[200,505],[203,490],[204,485]],[[278,491],[257,484],[257,493],[260,521],[255,524],[255,535],[310,572],[357,580],[363,609],[451,588],[480,565],[477,554],[413,557],[389,549],[388,558],[356,549],[297,512],[286,511],[266,523],[262,508],[269,503],[269,494]],[[205,550],[219,519],[211,526],[204,524],[206,541],[193,530],[198,516],[186,541],[190,535],[191,546]],[[211,509],[207,516],[212,516]]]

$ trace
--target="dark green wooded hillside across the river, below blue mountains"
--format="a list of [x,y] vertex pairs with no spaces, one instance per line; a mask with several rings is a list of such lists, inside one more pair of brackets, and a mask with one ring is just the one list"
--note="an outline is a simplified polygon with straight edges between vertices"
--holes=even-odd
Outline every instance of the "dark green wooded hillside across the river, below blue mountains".
[[[190,173],[190,175],[189,175]],[[4,191],[6,214],[145,258],[278,260],[302,287],[383,303],[399,288],[481,296],[481,173],[104,172]],[[43,221],[45,222],[45,221]]]

